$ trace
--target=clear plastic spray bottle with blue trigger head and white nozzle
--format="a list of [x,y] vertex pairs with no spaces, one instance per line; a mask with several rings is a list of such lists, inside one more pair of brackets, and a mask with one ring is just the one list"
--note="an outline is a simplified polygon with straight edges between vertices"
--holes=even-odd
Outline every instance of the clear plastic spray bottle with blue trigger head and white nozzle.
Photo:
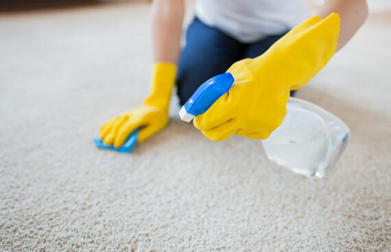
[[[205,81],[183,105],[179,115],[190,122],[229,91],[235,79],[230,73]],[[348,143],[349,129],[333,114],[308,101],[290,97],[283,123],[261,140],[270,160],[307,177],[322,178],[340,159]]]

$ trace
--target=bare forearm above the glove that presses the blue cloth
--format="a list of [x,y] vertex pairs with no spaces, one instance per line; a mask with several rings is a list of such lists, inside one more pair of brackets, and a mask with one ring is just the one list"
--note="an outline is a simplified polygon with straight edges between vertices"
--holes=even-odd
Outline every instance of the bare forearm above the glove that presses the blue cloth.
[[183,0],[154,1],[152,5],[154,62],[178,63],[184,14]]

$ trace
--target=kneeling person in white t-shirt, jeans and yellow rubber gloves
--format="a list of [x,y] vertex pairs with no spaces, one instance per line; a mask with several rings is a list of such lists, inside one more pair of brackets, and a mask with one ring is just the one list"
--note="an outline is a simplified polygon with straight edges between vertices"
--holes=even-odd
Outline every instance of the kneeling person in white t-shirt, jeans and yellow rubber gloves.
[[368,16],[365,0],[326,0],[310,17],[304,0],[196,0],[181,50],[184,5],[154,1],[150,96],[102,125],[105,144],[121,147],[138,127],[137,141],[147,140],[169,121],[175,83],[183,105],[204,81],[225,71],[235,77],[233,87],[195,117],[194,126],[211,140],[268,138],[283,121],[289,92],[316,75]]

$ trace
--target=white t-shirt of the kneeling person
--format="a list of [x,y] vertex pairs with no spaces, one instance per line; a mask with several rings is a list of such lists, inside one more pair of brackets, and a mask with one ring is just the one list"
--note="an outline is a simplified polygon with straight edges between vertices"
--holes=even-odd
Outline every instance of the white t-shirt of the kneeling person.
[[241,42],[292,29],[309,16],[305,0],[197,0],[195,15]]

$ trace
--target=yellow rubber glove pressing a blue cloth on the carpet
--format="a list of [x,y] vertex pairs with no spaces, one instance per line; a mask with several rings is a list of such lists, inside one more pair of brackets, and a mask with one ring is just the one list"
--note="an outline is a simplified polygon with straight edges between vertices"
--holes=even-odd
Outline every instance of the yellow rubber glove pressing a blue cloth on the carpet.
[[174,86],[176,65],[156,63],[152,74],[152,92],[138,108],[134,108],[110,119],[100,128],[100,138],[104,144],[119,148],[130,134],[141,127],[137,142],[143,142],[168,123],[169,101]]

